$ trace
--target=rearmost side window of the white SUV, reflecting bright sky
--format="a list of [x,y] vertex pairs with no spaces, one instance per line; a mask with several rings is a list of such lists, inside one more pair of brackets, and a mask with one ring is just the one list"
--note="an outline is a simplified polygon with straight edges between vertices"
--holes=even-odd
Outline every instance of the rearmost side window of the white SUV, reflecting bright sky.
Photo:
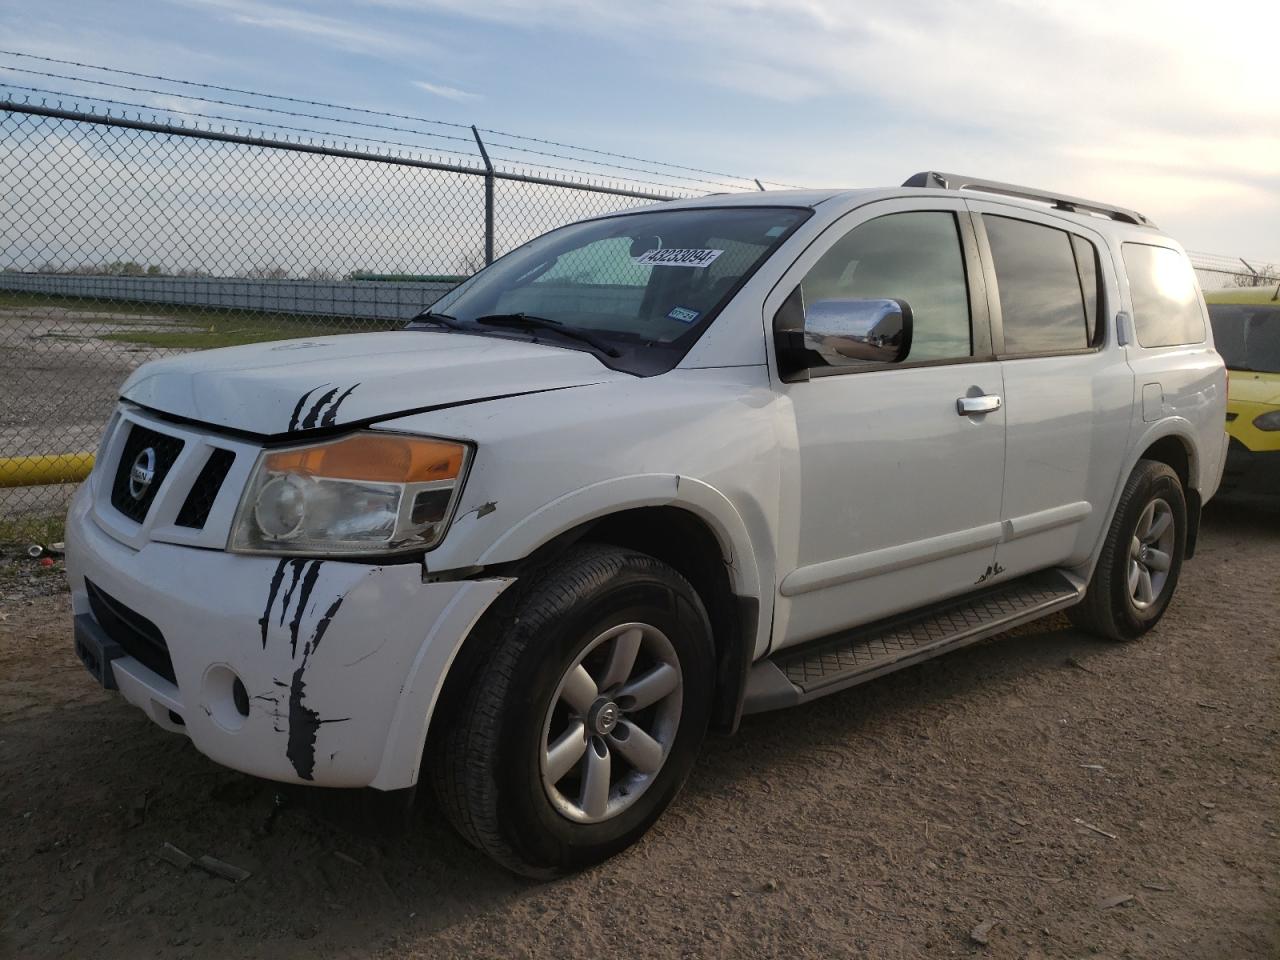
[[1143,347],[1204,342],[1204,314],[1187,257],[1169,247],[1125,243],[1133,325]]

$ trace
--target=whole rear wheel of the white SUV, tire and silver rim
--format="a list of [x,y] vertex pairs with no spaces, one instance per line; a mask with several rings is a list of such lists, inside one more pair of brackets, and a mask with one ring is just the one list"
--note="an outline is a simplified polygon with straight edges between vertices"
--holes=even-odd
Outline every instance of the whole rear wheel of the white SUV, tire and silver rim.
[[1165,614],[1187,549],[1187,499],[1166,463],[1140,460],[1130,474],[1089,589],[1068,616],[1110,640],[1137,640]]

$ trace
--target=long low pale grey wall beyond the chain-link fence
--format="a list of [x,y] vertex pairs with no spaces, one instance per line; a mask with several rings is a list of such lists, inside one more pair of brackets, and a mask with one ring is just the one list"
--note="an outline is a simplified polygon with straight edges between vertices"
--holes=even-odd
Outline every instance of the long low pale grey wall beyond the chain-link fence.
[[369,320],[407,320],[444,296],[451,287],[449,283],[401,280],[243,280],[0,273],[0,289],[20,293]]

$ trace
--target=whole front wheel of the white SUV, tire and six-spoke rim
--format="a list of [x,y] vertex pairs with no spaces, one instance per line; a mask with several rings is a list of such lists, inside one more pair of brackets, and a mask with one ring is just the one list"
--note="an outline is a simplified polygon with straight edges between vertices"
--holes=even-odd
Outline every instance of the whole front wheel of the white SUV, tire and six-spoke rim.
[[589,544],[518,584],[436,741],[440,805],[474,846],[529,877],[623,850],[694,764],[714,653],[671,567]]

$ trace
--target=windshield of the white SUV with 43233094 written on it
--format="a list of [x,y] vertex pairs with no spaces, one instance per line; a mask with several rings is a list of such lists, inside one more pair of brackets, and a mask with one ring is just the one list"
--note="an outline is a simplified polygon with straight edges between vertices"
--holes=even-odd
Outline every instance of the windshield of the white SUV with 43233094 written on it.
[[658,209],[572,224],[481,270],[426,317],[471,334],[590,349],[631,372],[663,372],[809,214]]

